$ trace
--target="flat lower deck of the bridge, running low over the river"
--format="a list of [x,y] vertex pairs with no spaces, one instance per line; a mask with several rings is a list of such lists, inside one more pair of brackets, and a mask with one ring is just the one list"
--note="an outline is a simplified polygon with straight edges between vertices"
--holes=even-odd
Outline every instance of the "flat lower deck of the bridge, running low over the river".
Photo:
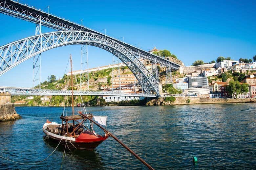
[[[9,92],[11,95],[70,95],[71,90],[47,90],[32,88],[0,88],[0,92]],[[127,96],[127,97],[157,97],[155,94],[121,93],[119,91],[79,91],[73,90],[74,95],[82,96]]]

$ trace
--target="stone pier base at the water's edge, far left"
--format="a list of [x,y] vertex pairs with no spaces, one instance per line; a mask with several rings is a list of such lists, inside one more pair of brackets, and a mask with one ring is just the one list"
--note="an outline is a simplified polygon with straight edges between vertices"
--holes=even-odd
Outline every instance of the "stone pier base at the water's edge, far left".
[[13,121],[16,119],[20,119],[16,111],[13,103],[9,104],[0,104],[0,122],[2,121]]

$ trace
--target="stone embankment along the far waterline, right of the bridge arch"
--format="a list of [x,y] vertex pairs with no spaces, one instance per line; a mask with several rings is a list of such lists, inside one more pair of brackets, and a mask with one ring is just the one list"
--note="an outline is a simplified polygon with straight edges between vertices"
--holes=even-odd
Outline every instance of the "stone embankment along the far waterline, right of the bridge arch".
[[147,102],[147,105],[183,105],[183,104],[212,104],[212,103],[247,103],[256,102],[256,99],[222,99],[222,98],[200,98],[200,97],[174,97],[174,101],[168,98],[158,98]]

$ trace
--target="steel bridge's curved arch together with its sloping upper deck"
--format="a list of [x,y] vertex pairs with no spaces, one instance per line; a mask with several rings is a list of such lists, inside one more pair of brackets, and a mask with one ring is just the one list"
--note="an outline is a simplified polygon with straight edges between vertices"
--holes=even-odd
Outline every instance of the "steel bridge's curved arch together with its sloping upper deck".
[[[158,63],[166,67],[166,70],[169,71],[169,76],[167,76],[166,71],[166,77],[170,77],[171,70],[178,70],[181,65],[181,61],[178,59],[170,57],[171,60],[167,60],[164,57],[151,54],[83,25],[12,0],[0,0],[0,12],[35,23],[36,32],[39,32],[38,35],[20,39],[0,47],[0,76],[31,57],[34,57],[34,62],[36,63],[38,57],[41,57],[41,53],[47,50],[66,45],[86,44],[102,48],[115,55],[133,72],[142,91],[145,92],[143,93],[144,96],[150,94],[158,97],[160,96],[160,91],[157,67],[150,72],[139,59],[144,58],[152,61],[154,65]],[[41,26],[57,31],[42,33]],[[37,59],[35,59],[35,56],[37,56]],[[35,65],[33,66],[35,67]],[[39,93],[42,94],[41,92]],[[52,92],[46,92],[47,95],[50,93]],[[68,93],[68,91],[60,92],[59,95],[64,93]],[[82,91],[79,91],[79,93],[82,93]],[[114,92],[112,93],[114,94]]]

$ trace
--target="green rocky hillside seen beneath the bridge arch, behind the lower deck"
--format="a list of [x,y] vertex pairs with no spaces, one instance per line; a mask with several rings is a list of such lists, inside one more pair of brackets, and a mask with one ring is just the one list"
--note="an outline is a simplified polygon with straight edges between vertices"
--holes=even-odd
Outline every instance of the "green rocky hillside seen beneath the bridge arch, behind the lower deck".
[[[118,74],[118,69],[114,68],[114,77]],[[128,67],[121,67],[120,74],[131,73]],[[87,85],[87,74],[83,73],[80,77],[80,74],[73,75],[73,82],[74,82],[74,90],[80,86],[80,79],[82,85]],[[89,73],[89,90],[99,90],[100,86],[102,85],[111,85],[112,79],[112,68],[99,70]],[[35,88],[39,88],[39,85],[35,86]],[[48,77],[48,81],[44,81],[41,83],[41,89],[53,89],[53,90],[71,90],[71,76],[67,76],[66,74],[59,80],[56,80],[54,75]],[[47,96],[49,100],[41,100],[43,96],[33,96],[33,99],[28,99],[29,96],[27,95],[19,95],[19,96],[12,96],[12,102],[24,100],[26,101],[26,106],[64,106],[69,105],[71,106],[72,100],[71,97],[65,96]],[[27,98],[27,99],[26,99]],[[46,99],[47,99],[46,98]],[[98,96],[82,96],[82,100],[86,105],[106,105],[111,103],[106,103],[105,100],[99,98]],[[66,101],[66,102],[65,102]],[[77,103],[82,103],[80,97],[75,96],[75,105]],[[117,104],[117,103],[112,103]],[[125,103],[123,103],[125,104]],[[135,103],[136,104],[136,103]]]

